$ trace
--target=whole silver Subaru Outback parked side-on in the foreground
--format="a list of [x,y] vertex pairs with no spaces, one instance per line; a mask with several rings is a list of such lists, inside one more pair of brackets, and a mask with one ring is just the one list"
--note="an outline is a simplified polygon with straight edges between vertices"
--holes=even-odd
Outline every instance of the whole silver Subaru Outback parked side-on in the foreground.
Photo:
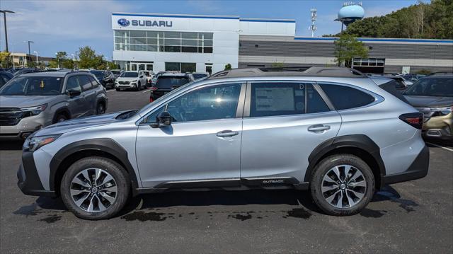
[[59,195],[83,219],[113,217],[130,195],[213,188],[310,190],[326,214],[357,214],[383,185],[428,173],[423,115],[387,81],[345,68],[221,71],[141,110],[40,129],[18,187]]

